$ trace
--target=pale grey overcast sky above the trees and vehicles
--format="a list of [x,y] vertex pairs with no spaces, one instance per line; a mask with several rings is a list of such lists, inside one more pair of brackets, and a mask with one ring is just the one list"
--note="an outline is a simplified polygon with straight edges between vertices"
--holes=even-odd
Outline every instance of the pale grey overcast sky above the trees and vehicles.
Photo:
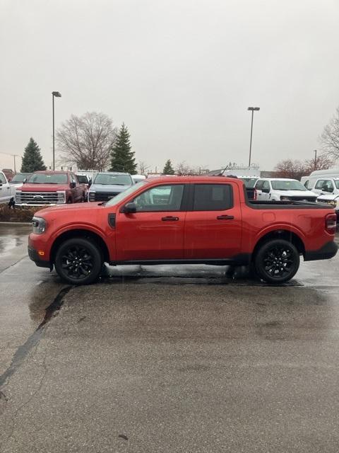
[[[339,105],[338,0],[0,0],[0,152],[107,113],[136,159],[273,169],[307,159]],[[0,154],[0,168],[13,159]]]

